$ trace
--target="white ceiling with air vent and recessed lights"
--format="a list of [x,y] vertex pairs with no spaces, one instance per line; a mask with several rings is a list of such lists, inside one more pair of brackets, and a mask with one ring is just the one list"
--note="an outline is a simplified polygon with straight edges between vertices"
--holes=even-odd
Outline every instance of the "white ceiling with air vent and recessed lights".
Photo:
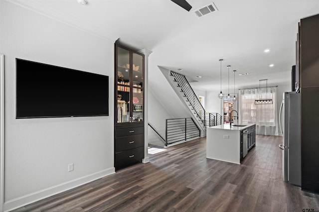
[[[186,11],[170,0],[11,0],[104,39],[153,51],[150,63],[180,73],[197,89],[227,87],[227,65],[236,88],[290,81],[301,18],[319,13],[319,0],[188,0]],[[218,11],[197,17],[193,10],[214,2]],[[269,53],[264,53],[265,49]],[[274,67],[269,67],[274,64]],[[195,76],[201,76],[197,79]]]

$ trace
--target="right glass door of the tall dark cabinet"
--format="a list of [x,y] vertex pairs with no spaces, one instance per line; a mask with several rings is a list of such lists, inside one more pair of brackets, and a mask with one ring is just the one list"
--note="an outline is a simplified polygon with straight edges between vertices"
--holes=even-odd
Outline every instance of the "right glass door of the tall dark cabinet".
[[133,53],[133,122],[143,121],[143,56]]

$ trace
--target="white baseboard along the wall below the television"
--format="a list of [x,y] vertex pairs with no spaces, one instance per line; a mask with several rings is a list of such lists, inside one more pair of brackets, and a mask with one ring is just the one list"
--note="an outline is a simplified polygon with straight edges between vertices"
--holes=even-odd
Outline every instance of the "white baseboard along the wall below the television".
[[113,174],[115,173],[115,169],[114,168],[109,168],[100,172],[96,172],[94,174],[91,175],[87,175],[84,177],[80,177],[56,186],[52,186],[50,188],[47,189],[43,189],[41,191],[38,192],[34,192],[13,200],[9,200],[4,202],[4,212],[8,212],[8,211],[12,211],[14,209],[18,209],[20,207],[29,205],[31,203],[37,202],[39,200],[43,200],[45,198],[51,197],[53,195],[65,192],[67,190],[76,188],[78,186],[87,184],[89,182],[95,181],[97,179],[100,179],[102,177],[105,177],[107,175]]

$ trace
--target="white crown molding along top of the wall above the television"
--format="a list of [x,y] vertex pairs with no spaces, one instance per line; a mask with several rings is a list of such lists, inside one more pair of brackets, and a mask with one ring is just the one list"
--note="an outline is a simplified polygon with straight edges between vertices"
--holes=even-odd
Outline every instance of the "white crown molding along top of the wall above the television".
[[118,37],[110,34],[107,30],[101,29],[94,24],[86,22],[84,19],[78,19],[66,13],[60,12],[50,6],[41,3],[38,0],[7,0],[24,8],[30,9],[34,12],[80,29],[97,37],[115,42]]

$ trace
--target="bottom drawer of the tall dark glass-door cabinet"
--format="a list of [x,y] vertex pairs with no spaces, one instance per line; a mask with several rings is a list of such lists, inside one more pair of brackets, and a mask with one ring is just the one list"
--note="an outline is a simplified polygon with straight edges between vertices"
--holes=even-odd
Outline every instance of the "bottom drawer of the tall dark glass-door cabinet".
[[142,162],[144,158],[144,147],[138,147],[115,153],[115,169],[121,169],[135,163]]

